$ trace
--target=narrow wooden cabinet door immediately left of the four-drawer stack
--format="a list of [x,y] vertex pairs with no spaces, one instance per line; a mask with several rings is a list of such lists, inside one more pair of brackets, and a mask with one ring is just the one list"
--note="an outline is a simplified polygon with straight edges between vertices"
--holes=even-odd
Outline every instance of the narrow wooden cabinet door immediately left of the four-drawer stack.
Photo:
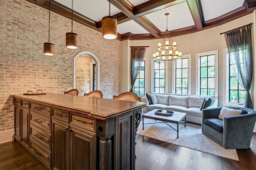
[[22,108],[21,109],[21,115],[22,115],[22,135],[21,135],[21,140],[22,143],[25,144],[28,147],[28,136],[29,136],[29,124],[28,124],[28,109]]

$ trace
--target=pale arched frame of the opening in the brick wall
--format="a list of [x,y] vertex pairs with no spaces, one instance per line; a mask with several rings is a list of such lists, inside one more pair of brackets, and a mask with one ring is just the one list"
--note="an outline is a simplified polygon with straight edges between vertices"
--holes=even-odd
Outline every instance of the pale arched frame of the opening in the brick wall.
[[[95,80],[96,80],[96,86],[95,86],[95,90],[100,90],[100,61],[99,59],[96,57],[96,55],[94,55],[94,53],[91,53],[89,51],[82,51],[78,54],[76,54],[76,56],[74,57],[74,65],[73,65],[73,88],[74,89],[80,89],[77,87],[77,83],[76,83],[76,77],[77,77],[77,74],[76,74],[76,68],[78,67],[77,65],[77,60],[78,60],[78,57],[91,57],[92,58],[92,62],[90,63],[90,67],[91,67],[91,71],[90,71],[90,81],[92,82],[93,79],[92,79],[92,64],[95,63]],[[89,92],[89,91],[92,91],[92,87],[90,86],[90,89],[88,89],[88,91],[86,92]],[[79,94],[79,95],[83,95],[82,93]]]

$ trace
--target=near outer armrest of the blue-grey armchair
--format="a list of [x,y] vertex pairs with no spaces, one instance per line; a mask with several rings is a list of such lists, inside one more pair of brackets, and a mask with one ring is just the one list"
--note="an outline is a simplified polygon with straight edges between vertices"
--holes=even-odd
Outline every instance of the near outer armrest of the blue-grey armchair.
[[256,113],[224,117],[222,146],[227,149],[249,148]]

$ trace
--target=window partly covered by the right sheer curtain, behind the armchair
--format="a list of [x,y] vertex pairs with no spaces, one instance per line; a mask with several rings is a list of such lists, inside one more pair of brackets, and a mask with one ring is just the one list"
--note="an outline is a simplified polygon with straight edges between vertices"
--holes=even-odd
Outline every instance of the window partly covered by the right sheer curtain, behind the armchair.
[[[239,51],[242,53],[242,51]],[[242,56],[242,55],[240,55]],[[224,57],[226,58],[224,69],[226,71],[226,103],[224,105],[244,105],[245,97],[246,97],[246,90],[239,85],[238,81],[236,80],[236,74],[234,69],[234,64],[232,60],[228,56],[228,49],[224,49]],[[231,57],[234,57],[231,53]],[[241,60],[242,61],[242,60]]]

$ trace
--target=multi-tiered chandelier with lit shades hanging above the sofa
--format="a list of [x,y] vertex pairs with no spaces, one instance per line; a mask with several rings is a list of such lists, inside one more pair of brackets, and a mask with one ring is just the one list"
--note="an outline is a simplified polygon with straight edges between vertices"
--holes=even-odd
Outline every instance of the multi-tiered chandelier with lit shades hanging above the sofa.
[[170,33],[167,26],[167,17],[169,13],[165,13],[164,15],[166,15],[166,32],[162,42],[158,43],[157,52],[153,54],[153,58],[158,61],[177,60],[181,58],[182,53],[178,51],[176,42],[173,42],[172,38],[170,38]]

